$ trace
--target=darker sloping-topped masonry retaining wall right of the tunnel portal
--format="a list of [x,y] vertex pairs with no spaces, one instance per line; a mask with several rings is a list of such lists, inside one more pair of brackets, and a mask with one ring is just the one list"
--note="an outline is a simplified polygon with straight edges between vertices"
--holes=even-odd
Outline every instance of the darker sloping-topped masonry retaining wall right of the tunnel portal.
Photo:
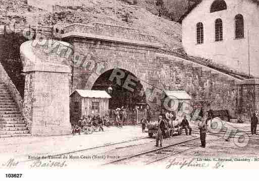
[[185,90],[193,99],[193,107],[205,103],[205,109],[228,109],[232,116],[237,113],[237,85],[226,76],[202,71],[201,67],[184,64],[181,59],[157,57],[160,65],[158,78],[165,90]]

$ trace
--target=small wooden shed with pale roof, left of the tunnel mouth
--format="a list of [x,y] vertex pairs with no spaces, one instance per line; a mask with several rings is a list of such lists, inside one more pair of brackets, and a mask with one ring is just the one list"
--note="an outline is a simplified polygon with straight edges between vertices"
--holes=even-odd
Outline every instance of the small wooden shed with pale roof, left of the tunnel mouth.
[[70,94],[70,122],[76,124],[81,116],[107,115],[110,98],[106,91],[75,90]]

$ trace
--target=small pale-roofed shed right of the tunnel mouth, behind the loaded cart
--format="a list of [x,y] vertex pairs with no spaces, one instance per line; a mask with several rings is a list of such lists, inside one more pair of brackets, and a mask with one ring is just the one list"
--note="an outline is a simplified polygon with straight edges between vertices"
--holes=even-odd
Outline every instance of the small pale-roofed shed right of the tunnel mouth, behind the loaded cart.
[[[191,96],[186,91],[164,91],[170,99],[177,99],[178,105],[173,105],[174,103],[170,102],[168,105],[174,109],[174,111],[180,116],[182,113],[187,113],[187,117],[191,112],[190,107],[190,100],[192,99]],[[174,107],[174,108],[173,108]]]

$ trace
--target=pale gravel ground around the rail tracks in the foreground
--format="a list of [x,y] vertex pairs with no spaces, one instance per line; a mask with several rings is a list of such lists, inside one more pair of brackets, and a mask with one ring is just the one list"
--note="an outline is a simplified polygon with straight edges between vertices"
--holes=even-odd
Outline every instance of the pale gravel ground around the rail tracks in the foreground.
[[[251,168],[251,166],[258,166],[258,162],[254,161],[254,158],[259,157],[259,136],[251,136],[248,132],[250,128],[247,124],[234,124],[232,126],[235,126],[234,128],[237,128],[240,131],[247,131],[249,141],[246,146],[237,146],[238,140],[233,138],[231,138],[228,142],[225,141],[226,136],[223,137],[223,133],[215,135],[208,132],[206,137],[207,144],[205,149],[197,147],[181,154],[177,154],[176,156],[171,156],[164,160],[152,163],[150,165],[147,165],[146,167]],[[186,136],[185,133],[183,133],[181,136],[175,136],[173,138],[165,139],[163,146],[198,137],[199,134],[197,128],[195,128],[194,125],[192,125],[192,127],[192,136]],[[92,148],[96,146],[103,146],[116,142],[143,138],[146,136],[147,133],[142,133],[140,126],[125,126],[122,129],[116,127],[112,127],[109,129],[106,128],[105,132],[96,132],[93,135],[3,138],[1,139],[2,142],[0,142],[0,153],[2,160],[5,161],[3,161],[2,164],[0,163],[0,167],[5,167],[7,165],[7,161],[10,161],[11,158],[14,158],[15,161],[28,160],[28,155],[55,155],[75,150]],[[216,138],[220,138],[220,140],[215,141]],[[210,142],[209,140],[213,140],[213,142]],[[198,140],[197,143],[199,143]],[[107,163],[129,155],[134,155],[140,152],[153,150],[155,148],[154,144],[154,138],[144,138],[107,147],[67,154],[67,158],[64,158],[62,156],[62,158],[64,159],[51,158],[41,159],[40,162],[37,162],[36,160],[20,162],[18,166],[16,166],[16,168],[48,168],[49,166],[51,166],[52,163],[59,163],[61,164],[60,167],[75,169],[82,167],[99,168],[98,166],[103,163]],[[181,151],[185,150],[186,148],[187,147],[175,146],[172,149]],[[171,148],[169,148],[169,150],[170,149]],[[149,155],[150,158],[147,159],[147,156],[148,155],[126,160],[126,162],[120,164],[119,166],[120,168],[124,166],[143,167],[145,163],[150,162],[153,159],[152,153],[151,155]],[[224,159],[227,160],[224,161]],[[250,159],[249,162],[248,159]],[[3,163],[5,165],[3,165]],[[118,167],[118,165],[115,166]],[[59,166],[56,167],[60,168]]]

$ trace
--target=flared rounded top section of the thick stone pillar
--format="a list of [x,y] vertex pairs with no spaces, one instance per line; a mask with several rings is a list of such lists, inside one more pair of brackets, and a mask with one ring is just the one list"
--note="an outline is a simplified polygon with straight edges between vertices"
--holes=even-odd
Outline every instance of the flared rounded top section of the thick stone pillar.
[[35,39],[20,46],[23,72],[71,73],[72,45],[53,39]]

